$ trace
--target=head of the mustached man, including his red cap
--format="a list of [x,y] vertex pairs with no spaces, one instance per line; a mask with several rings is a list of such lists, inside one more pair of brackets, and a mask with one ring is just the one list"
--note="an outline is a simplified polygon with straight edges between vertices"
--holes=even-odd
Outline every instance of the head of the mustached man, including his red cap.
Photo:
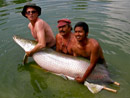
[[68,33],[71,33],[72,27],[71,27],[71,21],[69,19],[60,19],[58,20],[58,25],[59,33],[62,36],[67,35]]

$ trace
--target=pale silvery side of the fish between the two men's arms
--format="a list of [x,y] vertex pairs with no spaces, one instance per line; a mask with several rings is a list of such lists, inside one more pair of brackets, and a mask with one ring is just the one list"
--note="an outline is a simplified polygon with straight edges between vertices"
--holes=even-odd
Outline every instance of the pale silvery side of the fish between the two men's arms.
[[[55,52],[51,49],[47,49]],[[87,69],[86,62],[79,62],[76,59],[63,58],[60,55],[52,54],[52,52],[47,52],[46,49],[41,52],[37,52],[33,55],[33,58],[37,63],[47,70],[55,73],[69,75],[71,77],[82,76]],[[81,64],[82,63],[82,64]],[[81,66],[79,66],[81,65]]]

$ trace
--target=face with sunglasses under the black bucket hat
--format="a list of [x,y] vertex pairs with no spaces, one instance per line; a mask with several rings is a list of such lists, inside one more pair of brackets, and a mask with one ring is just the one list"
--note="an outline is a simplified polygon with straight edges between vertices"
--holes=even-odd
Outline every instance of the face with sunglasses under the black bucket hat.
[[32,7],[28,7],[26,10],[26,17],[31,21],[31,20],[35,20],[38,17],[38,12],[36,11],[35,8]]

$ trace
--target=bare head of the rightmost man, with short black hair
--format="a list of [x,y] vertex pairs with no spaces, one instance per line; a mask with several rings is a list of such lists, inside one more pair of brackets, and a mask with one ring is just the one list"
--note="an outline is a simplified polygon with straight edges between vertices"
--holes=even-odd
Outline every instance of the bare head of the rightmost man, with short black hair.
[[86,38],[89,32],[89,27],[85,22],[78,22],[74,27],[75,37],[78,41],[82,41]]

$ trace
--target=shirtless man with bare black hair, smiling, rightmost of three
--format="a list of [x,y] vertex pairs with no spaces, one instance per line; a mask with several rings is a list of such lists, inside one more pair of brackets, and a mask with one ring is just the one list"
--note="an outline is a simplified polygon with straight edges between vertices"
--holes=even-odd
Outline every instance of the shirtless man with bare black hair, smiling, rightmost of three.
[[105,64],[105,59],[99,43],[95,39],[87,38],[89,27],[85,22],[78,22],[74,27],[74,31],[76,42],[72,48],[73,55],[85,57],[90,60],[90,65],[88,69],[86,69],[83,77],[77,76],[76,78],[78,82],[82,83],[92,72],[96,63]]

